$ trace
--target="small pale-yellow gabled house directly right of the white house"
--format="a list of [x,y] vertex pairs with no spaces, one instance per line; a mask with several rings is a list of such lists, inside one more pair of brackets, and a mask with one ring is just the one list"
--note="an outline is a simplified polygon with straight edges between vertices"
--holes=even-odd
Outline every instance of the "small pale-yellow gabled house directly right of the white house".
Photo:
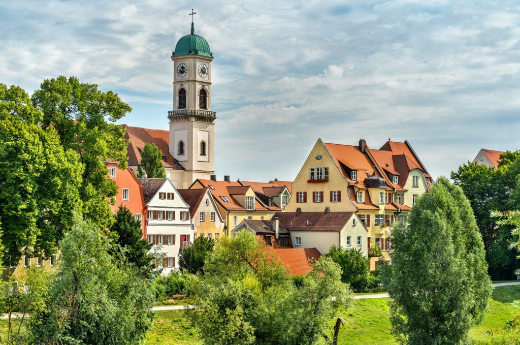
[[220,236],[224,236],[225,222],[209,188],[177,190],[190,206],[190,216],[195,227],[193,238],[218,240]]

